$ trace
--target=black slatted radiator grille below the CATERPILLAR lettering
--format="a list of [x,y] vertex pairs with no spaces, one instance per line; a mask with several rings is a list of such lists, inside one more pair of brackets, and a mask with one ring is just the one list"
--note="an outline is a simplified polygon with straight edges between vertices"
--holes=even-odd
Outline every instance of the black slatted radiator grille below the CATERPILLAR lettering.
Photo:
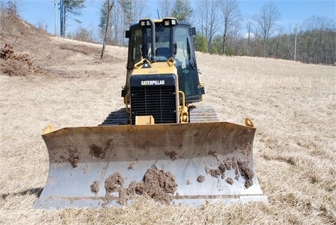
[[175,86],[141,86],[131,88],[131,118],[154,117],[155,123],[176,123]]

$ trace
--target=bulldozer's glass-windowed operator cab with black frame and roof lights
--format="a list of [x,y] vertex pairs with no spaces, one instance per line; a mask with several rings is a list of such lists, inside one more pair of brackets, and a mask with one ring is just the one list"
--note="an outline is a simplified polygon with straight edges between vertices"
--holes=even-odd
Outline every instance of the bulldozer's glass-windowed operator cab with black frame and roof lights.
[[[151,63],[166,62],[172,57],[179,76],[179,90],[186,96],[186,103],[200,102],[204,88],[198,78],[193,35],[195,28],[188,22],[178,22],[175,18],[140,20],[126,32],[129,38],[127,71],[132,72],[134,64],[146,58]],[[153,34],[155,37],[152,38]],[[155,50],[152,50],[155,48]]]

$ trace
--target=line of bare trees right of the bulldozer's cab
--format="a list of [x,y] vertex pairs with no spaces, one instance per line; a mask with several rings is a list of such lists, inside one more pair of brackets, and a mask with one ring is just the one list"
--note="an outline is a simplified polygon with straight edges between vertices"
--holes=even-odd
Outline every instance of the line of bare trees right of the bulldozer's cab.
[[289,27],[290,32],[283,32],[281,13],[272,2],[251,18],[242,17],[237,0],[197,2],[197,50],[335,65],[335,20],[312,15],[302,24]]

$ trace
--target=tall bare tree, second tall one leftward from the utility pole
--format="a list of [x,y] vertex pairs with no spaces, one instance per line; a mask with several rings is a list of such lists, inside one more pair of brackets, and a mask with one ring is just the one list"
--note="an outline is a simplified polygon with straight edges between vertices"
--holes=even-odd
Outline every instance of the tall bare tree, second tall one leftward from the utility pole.
[[239,21],[241,16],[239,2],[237,0],[221,1],[221,11],[223,13],[223,54],[225,54],[226,40],[230,29]]

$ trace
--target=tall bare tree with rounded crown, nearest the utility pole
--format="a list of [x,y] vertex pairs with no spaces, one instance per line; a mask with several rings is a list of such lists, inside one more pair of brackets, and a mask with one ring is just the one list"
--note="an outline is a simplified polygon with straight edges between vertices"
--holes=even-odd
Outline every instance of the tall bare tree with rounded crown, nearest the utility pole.
[[264,57],[268,56],[269,38],[276,32],[278,25],[276,21],[280,19],[280,12],[274,3],[265,4],[256,15],[256,22],[262,36]]

